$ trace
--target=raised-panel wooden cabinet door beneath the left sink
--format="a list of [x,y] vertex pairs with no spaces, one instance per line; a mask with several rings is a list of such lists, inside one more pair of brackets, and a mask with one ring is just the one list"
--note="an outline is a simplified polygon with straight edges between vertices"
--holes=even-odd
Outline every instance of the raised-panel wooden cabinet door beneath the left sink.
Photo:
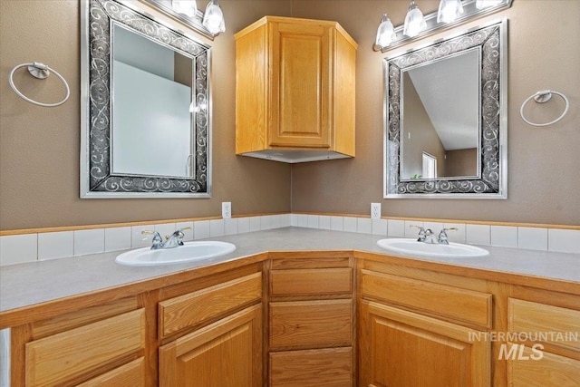
[[255,305],[160,347],[160,386],[262,385],[262,306]]

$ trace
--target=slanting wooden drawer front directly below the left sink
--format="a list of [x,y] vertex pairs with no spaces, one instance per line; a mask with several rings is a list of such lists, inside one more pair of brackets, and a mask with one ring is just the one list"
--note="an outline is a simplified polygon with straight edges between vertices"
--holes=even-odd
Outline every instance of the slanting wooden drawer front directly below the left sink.
[[262,273],[236,278],[160,302],[160,337],[262,298]]

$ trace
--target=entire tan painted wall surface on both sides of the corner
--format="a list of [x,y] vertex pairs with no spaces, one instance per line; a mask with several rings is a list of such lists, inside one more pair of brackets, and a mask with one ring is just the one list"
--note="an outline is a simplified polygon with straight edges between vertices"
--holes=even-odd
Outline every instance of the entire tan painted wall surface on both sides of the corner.
[[[424,13],[435,10],[437,3],[417,0]],[[375,53],[371,47],[382,13],[389,12],[393,23],[401,24],[408,2],[220,0],[220,4],[227,32],[213,43],[213,198],[82,200],[78,3],[0,1],[1,229],[216,216],[221,201],[232,201],[235,215],[290,209],[367,214],[371,202],[382,202],[385,216],[580,222],[580,2],[514,0],[511,9],[486,18],[509,19],[509,198],[477,201],[382,199],[386,53]],[[360,44],[355,159],[290,167],[234,155],[233,34],[263,15],[337,20]],[[72,92],[69,102],[59,108],[36,107],[10,90],[7,77],[12,67],[32,61],[47,63],[66,77]],[[41,87],[26,77],[20,81],[23,92],[35,98],[50,101],[60,95],[51,80]],[[519,106],[528,95],[546,88],[565,92],[572,107],[556,125],[531,128],[519,118]],[[559,108],[553,103],[544,107],[545,115],[534,117],[532,111],[531,116],[548,121]]]

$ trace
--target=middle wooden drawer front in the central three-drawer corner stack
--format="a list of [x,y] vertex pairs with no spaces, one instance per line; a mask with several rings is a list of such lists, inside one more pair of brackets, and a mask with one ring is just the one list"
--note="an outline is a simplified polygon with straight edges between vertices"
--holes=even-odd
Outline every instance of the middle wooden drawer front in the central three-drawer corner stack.
[[351,300],[270,303],[270,349],[351,346]]

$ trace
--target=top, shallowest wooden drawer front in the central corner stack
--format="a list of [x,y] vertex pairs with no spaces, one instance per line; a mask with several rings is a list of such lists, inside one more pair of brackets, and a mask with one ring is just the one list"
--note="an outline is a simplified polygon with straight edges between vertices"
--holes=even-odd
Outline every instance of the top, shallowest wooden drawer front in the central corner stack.
[[271,295],[335,295],[353,292],[350,268],[271,270]]

